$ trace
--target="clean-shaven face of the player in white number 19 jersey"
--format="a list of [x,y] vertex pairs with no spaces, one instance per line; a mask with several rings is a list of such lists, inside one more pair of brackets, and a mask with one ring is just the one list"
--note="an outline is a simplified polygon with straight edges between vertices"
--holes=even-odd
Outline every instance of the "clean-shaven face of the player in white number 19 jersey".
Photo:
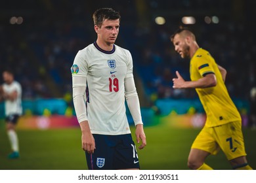
[[106,44],[114,44],[119,33],[119,19],[104,20],[101,27],[96,26],[95,29],[96,33],[98,33],[99,41],[103,41]]

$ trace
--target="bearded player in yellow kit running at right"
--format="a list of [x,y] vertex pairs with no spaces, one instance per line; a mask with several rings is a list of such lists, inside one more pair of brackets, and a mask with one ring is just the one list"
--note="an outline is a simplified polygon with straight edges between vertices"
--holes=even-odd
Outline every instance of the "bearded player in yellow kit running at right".
[[175,31],[171,42],[181,58],[190,59],[191,78],[185,81],[176,71],[173,88],[195,88],[207,115],[205,126],[192,144],[188,167],[212,169],[204,163],[205,159],[221,149],[233,169],[252,169],[246,159],[242,119],[224,84],[226,70],[215,63],[207,50],[198,46],[190,29]]

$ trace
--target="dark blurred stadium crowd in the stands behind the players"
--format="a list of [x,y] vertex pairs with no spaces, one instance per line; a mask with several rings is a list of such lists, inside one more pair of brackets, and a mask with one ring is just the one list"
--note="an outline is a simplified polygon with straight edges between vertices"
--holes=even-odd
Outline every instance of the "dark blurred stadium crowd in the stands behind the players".
[[[209,50],[217,63],[228,71],[226,86],[230,95],[249,99],[249,92],[255,86],[255,36],[248,30],[249,20],[230,15],[236,14],[233,1],[39,2],[27,7],[31,11],[24,16],[23,24],[11,25],[7,18],[2,18],[4,23],[0,24],[0,71],[5,67],[14,70],[16,80],[22,84],[24,99],[72,94],[70,67],[77,51],[96,39],[92,14],[99,7],[120,11],[121,27],[116,44],[131,51],[135,75],[144,86],[144,91],[139,92],[149,100],[197,97],[194,90],[172,88],[175,71],[186,80],[190,79],[189,60],[182,60],[169,40],[173,31],[184,25],[181,17],[186,14],[182,12],[188,10],[195,15],[200,10],[217,10],[215,13],[221,15],[219,24],[198,21],[187,26],[194,30],[200,47]],[[26,10],[29,4],[25,4],[18,4],[16,10]],[[9,17],[9,9],[3,8],[2,17]],[[237,10],[238,15],[240,11]],[[165,16],[166,24],[155,24],[158,14]],[[202,14],[198,18],[203,20]]]

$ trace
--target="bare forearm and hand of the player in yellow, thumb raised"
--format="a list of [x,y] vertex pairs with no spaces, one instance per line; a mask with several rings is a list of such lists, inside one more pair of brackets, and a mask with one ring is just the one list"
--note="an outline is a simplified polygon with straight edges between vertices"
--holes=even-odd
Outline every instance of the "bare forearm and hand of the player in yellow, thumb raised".
[[177,78],[173,78],[173,88],[209,88],[217,85],[215,74],[209,73],[199,80],[185,81],[176,71]]

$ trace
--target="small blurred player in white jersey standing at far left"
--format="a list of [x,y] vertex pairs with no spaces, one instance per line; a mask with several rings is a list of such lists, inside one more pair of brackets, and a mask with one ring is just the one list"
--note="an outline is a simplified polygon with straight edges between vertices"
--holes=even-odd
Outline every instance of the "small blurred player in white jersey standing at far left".
[[19,116],[22,114],[22,87],[14,80],[12,71],[3,72],[4,84],[0,86],[0,99],[5,101],[5,121],[7,135],[11,142],[12,152],[9,158],[19,158],[18,136],[16,134],[16,124]]

